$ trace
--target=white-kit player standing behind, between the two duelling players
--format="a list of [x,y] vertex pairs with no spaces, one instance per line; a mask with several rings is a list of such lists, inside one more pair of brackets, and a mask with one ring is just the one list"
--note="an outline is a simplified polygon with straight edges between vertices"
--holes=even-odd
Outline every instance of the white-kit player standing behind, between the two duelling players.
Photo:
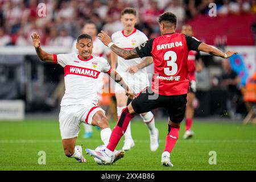
[[[133,49],[139,44],[145,42],[147,36],[143,32],[135,28],[137,23],[137,13],[134,8],[127,7],[121,12],[121,22],[123,30],[114,32],[112,40],[117,46],[125,49]],[[111,53],[112,67],[115,68],[117,64],[117,72],[125,79],[127,84],[135,93],[141,92],[142,89],[149,86],[146,68],[147,65],[152,63],[152,57],[146,59],[135,58],[129,61],[124,60],[122,57],[117,56],[114,52]],[[117,115],[120,117],[122,109],[127,105],[127,96],[123,88],[115,84],[115,97],[117,98]],[[155,128],[154,115],[150,112],[140,114],[143,121],[146,123],[150,131],[150,148],[151,151],[158,149],[158,129]],[[131,137],[130,123],[125,133],[125,144],[123,150],[130,150],[134,146],[134,140]]]

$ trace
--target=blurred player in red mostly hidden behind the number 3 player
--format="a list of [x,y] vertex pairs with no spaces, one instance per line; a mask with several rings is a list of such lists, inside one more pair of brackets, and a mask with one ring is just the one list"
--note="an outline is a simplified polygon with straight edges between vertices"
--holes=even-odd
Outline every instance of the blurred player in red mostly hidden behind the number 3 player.
[[[193,30],[190,25],[182,26],[181,33],[189,36],[193,36]],[[203,69],[203,63],[200,58],[200,53],[197,51],[188,52],[188,75],[190,79],[190,89],[187,96],[187,106],[185,112],[185,133],[183,138],[189,139],[193,137],[194,132],[191,130],[194,116],[193,101],[196,98],[196,72],[200,72]]]

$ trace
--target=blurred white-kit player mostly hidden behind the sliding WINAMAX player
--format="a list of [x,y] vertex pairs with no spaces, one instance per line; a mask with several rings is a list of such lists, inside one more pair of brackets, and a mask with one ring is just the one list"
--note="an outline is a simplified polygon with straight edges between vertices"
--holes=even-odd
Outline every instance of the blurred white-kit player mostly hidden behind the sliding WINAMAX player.
[[[84,24],[84,27],[82,28],[82,34],[88,34],[90,36],[92,36],[92,40],[93,40],[93,56],[99,56],[102,57],[104,56],[105,58],[107,56],[110,55],[111,50],[106,47],[98,38],[97,38],[97,28],[96,28],[96,24],[93,23],[92,21],[88,21]],[[72,46],[72,50],[71,52],[76,52],[77,54],[78,49],[76,48],[76,40],[73,43]],[[97,81],[97,97],[98,100],[100,101],[102,99],[101,94],[102,94],[102,89],[104,86],[104,78],[105,74],[104,73],[100,73],[100,76],[98,78]],[[91,125],[87,125],[86,123],[83,123],[84,125],[84,130],[85,133],[83,135],[84,138],[91,138],[92,134],[93,134],[93,129]]]

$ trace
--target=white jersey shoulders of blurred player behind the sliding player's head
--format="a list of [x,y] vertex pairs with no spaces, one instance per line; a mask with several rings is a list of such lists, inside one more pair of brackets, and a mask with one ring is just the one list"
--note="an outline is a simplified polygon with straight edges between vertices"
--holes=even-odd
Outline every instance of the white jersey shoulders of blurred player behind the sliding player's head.
[[[78,49],[76,48],[76,40],[73,43],[71,52],[75,52],[79,54]],[[110,54],[110,52],[111,52],[110,48],[105,46],[100,39],[95,38],[93,40],[93,51],[92,51],[93,56],[106,57],[107,55]]]

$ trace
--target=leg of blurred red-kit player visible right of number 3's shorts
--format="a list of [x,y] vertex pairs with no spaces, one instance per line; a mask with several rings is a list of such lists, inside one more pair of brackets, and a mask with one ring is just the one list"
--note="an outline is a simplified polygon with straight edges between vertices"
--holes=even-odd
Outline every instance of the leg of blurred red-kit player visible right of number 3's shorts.
[[195,93],[188,93],[187,96],[187,106],[186,106],[186,121],[185,121],[185,133],[183,138],[184,139],[189,139],[191,137],[193,137],[194,133],[191,130],[191,126],[193,123],[193,117],[194,117],[194,107],[193,107],[193,100],[195,99],[196,94]]

